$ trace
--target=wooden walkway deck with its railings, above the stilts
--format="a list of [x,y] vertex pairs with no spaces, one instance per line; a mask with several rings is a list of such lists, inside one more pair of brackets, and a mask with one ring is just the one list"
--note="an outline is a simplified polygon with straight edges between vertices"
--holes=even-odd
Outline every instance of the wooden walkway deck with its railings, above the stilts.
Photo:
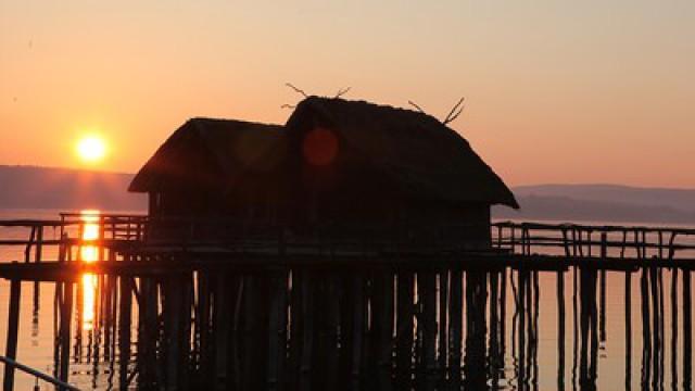
[[[177,225],[193,232],[199,220]],[[168,222],[170,223],[170,220]],[[438,268],[515,267],[539,270],[584,265],[629,270],[644,266],[695,267],[695,229],[643,226],[591,226],[577,224],[493,223],[492,248],[485,251],[457,247],[451,240],[413,243],[403,240],[314,240],[290,238],[281,227],[271,238],[235,231],[225,239],[148,239],[151,222],[141,215],[61,214],[56,220],[0,220],[0,228],[24,228],[25,239],[2,238],[0,248],[24,248],[24,260],[0,260],[0,278],[68,280],[83,273],[146,276],[163,273],[229,268],[251,270],[287,268]],[[96,239],[84,240],[86,225],[97,225]],[[463,226],[465,227],[465,226]],[[255,227],[256,231],[260,230]],[[448,227],[460,229],[462,227]],[[53,238],[45,232],[53,230]],[[58,230],[58,232],[55,232]],[[1,235],[1,231],[0,231]],[[366,236],[367,237],[367,236]],[[99,249],[98,262],[80,261],[83,247]],[[47,250],[47,249],[51,249]],[[52,258],[45,258],[47,252]],[[23,261],[23,263],[22,263]]]

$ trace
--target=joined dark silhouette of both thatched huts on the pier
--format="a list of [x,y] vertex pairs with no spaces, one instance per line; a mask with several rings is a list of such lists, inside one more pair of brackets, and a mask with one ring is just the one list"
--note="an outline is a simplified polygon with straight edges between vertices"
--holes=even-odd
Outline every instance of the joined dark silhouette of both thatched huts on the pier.
[[[285,127],[194,118],[132,180],[153,216],[240,217],[293,232],[381,232],[488,243],[511,191],[434,117],[309,97]],[[356,234],[357,235],[357,234]]]

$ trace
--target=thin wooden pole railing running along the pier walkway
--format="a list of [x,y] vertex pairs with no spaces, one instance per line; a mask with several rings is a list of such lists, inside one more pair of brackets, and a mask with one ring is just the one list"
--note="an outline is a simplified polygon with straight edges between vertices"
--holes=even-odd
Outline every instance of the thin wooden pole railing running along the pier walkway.
[[[695,229],[683,227],[494,222],[489,226],[460,224],[433,228],[324,225],[298,232],[283,225],[233,219],[62,213],[56,220],[0,220],[0,228],[24,229],[24,238],[17,235],[3,238],[0,231],[0,247],[24,247],[22,257],[27,263],[41,262],[47,253],[49,260],[79,261],[80,248],[85,245],[98,245],[100,260],[116,260],[117,250],[155,245],[173,251],[218,247],[278,254],[457,253],[492,249],[496,253],[528,256],[695,260]],[[471,232],[480,237],[488,229],[490,241],[470,239]],[[9,260],[0,260],[3,261]]]

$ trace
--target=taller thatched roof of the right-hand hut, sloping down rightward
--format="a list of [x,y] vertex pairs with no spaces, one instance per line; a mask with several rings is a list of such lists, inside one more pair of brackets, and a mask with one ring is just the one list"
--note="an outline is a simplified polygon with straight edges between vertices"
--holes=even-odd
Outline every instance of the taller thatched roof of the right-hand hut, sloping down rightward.
[[[514,194],[460,135],[437,118],[364,101],[309,97],[286,124],[288,136],[307,126],[330,128],[340,153],[359,155],[413,197],[504,204]],[[299,135],[298,135],[299,134]]]

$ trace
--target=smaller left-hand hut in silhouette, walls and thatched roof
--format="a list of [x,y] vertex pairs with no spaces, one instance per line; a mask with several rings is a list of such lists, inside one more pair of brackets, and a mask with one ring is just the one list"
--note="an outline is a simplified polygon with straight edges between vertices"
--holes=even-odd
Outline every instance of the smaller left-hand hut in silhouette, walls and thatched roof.
[[152,217],[242,217],[250,205],[231,202],[244,190],[239,178],[242,173],[260,178],[271,168],[262,157],[281,142],[281,130],[280,125],[189,119],[150,157],[128,191],[149,193]]

